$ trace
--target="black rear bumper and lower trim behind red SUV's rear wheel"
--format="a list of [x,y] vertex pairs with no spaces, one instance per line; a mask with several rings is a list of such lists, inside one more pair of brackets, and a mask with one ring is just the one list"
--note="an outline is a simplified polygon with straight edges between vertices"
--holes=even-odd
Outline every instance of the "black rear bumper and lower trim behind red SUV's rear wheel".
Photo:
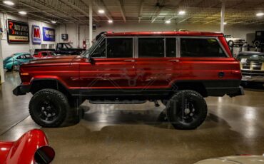
[[206,88],[208,96],[224,96],[225,94],[234,97],[244,95],[244,88],[238,87],[227,87],[227,88]]

